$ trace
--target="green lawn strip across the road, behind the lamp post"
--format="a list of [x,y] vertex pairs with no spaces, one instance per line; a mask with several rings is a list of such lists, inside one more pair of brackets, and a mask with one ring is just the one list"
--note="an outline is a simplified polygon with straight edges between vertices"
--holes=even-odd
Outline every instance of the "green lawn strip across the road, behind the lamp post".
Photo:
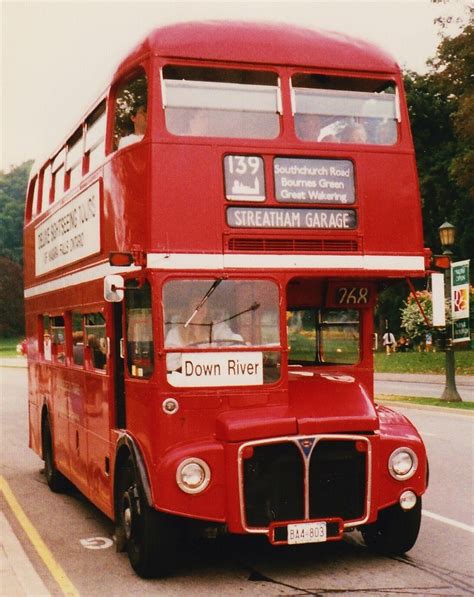
[[[396,352],[374,354],[377,373],[438,373],[445,372],[444,352]],[[457,375],[474,375],[474,351],[455,351]]]

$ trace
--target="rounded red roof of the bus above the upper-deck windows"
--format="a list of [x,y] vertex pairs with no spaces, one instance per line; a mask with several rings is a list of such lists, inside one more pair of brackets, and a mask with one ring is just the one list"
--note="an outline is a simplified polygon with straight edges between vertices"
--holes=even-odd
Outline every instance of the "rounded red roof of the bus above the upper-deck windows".
[[116,74],[149,52],[167,58],[400,71],[395,59],[377,46],[333,31],[277,23],[196,21],[155,29]]

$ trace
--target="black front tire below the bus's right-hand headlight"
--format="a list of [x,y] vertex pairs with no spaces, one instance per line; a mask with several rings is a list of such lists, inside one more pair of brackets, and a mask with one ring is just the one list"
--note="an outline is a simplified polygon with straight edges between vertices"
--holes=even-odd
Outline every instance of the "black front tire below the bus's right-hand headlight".
[[384,555],[402,555],[416,543],[421,525],[421,497],[412,510],[398,504],[381,510],[377,522],[361,529],[367,547]]

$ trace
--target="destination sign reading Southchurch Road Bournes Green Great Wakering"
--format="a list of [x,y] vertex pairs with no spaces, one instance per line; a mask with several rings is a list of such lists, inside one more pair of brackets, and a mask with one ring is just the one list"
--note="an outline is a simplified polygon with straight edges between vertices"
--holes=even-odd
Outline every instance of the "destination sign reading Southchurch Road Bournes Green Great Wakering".
[[349,160],[275,158],[273,168],[277,201],[333,205],[355,201]]

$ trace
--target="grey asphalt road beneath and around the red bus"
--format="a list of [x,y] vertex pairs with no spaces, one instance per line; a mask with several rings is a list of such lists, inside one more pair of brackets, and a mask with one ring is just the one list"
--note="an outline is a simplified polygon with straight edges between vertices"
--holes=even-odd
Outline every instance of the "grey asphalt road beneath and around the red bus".
[[[70,580],[70,594],[73,590],[91,597],[474,594],[474,417],[442,409],[400,408],[417,424],[431,470],[420,537],[407,556],[373,555],[357,532],[340,543],[296,548],[272,548],[263,538],[223,537],[183,549],[172,578],[146,581],[135,576],[125,554],[115,552],[109,520],[76,491],[64,495],[49,491],[42,462],[27,447],[26,370],[0,369],[0,374],[1,475]],[[2,508],[47,594],[64,594],[21,528],[17,511],[3,498]]]

